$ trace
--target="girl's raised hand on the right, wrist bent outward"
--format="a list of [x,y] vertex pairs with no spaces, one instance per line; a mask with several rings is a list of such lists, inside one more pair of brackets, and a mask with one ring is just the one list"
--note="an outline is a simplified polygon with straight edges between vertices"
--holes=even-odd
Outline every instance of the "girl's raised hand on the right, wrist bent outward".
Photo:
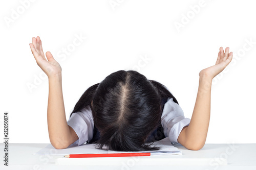
[[201,70],[199,72],[199,76],[206,75],[213,79],[231,62],[232,57],[233,53],[229,53],[229,47],[226,47],[225,53],[223,51],[223,47],[220,47],[220,52],[218,53],[216,64]]

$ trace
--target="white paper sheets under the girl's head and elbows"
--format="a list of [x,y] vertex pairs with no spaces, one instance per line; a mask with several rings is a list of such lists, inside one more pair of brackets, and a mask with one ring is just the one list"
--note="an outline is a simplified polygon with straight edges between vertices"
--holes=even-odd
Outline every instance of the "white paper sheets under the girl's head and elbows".
[[[182,155],[178,148],[174,147],[170,143],[169,138],[166,137],[162,140],[154,142],[155,145],[161,147],[157,151],[142,151],[142,152],[151,152],[152,155]],[[95,144],[84,143],[79,146],[70,145],[66,149],[55,149],[52,144],[48,144],[47,147],[39,150],[33,155],[58,155],[64,156],[69,154],[107,154],[107,153],[133,153],[133,152],[116,152],[116,151],[106,151],[95,148]],[[136,152],[138,153],[138,152]]]

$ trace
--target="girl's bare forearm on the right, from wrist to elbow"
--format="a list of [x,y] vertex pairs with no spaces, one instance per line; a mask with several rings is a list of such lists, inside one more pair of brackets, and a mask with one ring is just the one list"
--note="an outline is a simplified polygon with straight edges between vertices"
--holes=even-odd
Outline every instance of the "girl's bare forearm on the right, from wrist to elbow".
[[210,93],[212,78],[200,75],[197,99],[190,124],[186,129],[187,146],[201,149],[206,140],[210,121]]

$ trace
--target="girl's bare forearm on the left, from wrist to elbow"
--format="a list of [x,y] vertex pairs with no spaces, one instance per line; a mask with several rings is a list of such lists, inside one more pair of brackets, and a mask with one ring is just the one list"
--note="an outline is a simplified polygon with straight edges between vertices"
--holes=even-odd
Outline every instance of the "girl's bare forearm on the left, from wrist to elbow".
[[61,75],[49,78],[48,132],[56,149],[66,148],[70,136],[63,102]]

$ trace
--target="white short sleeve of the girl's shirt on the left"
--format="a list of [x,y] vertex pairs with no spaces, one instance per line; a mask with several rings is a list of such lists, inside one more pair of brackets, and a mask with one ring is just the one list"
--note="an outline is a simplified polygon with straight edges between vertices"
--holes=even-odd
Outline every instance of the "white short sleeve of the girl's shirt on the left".
[[90,106],[73,113],[67,123],[78,136],[78,139],[72,145],[81,145],[93,138],[94,122]]

